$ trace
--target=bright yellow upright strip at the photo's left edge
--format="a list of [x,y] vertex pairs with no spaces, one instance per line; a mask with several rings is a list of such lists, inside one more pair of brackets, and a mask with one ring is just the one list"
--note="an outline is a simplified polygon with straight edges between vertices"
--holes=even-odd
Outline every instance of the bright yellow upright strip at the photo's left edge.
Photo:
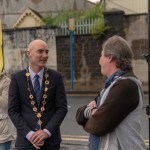
[[0,73],[3,71],[3,65],[4,65],[2,43],[3,43],[3,39],[2,39],[2,22],[0,20]]

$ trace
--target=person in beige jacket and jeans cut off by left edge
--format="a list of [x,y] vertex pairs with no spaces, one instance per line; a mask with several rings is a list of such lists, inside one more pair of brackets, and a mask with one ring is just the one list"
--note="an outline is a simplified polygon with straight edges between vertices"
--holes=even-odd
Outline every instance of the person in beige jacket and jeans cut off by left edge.
[[16,138],[16,129],[7,113],[9,84],[10,79],[3,71],[0,73],[0,150],[10,150]]

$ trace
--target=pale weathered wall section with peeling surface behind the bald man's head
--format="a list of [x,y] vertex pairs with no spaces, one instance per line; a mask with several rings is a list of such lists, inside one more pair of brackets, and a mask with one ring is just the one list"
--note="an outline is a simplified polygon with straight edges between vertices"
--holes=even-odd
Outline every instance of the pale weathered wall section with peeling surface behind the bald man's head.
[[4,69],[9,74],[26,68],[26,49],[34,39],[43,39],[49,46],[48,67],[57,70],[56,37],[51,28],[30,28],[3,31]]

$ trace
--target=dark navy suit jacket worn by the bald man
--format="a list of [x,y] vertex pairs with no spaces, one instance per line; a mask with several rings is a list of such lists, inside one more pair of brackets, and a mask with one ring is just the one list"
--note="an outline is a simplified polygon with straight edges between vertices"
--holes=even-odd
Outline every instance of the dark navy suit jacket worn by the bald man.
[[[52,136],[45,140],[45,146],[57,145],[61,142],[60,124],[67,113],[67,100],[61,74],[48,69],[48,92],[45,111],[42,115],[42,129],[47,129]],[[30,148],[32,144],[26,139],[26,135],[37,125],[38,118],[33,112],[29,99],[26,70],[14,73],[11,76],[9,87],[8,114],[17,128],[16,147],[18,149]],[[43,77],[43,82],[45,78]],[[32,83],[30,81],[32,87]],[[42,86],[42,91],[43,91]],[[32,89],[32,93],[33,89]],[[36,100],[35,100],[36,101]],[[37,106],[37,103],[36,103]]]

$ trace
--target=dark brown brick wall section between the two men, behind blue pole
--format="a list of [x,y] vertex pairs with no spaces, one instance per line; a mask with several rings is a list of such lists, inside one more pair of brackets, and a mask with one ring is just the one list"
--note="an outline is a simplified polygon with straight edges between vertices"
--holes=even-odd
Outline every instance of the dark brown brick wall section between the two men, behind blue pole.
[[[97,79],[100,74],[99,57],[102,40],[91,35],[74,36],[74,77],[75,81],[84,80],[83,76]],[[70,79],[70,39],[57,37],[57,63],[65,80]],[[83,77],[83,78],[82,78]]]

